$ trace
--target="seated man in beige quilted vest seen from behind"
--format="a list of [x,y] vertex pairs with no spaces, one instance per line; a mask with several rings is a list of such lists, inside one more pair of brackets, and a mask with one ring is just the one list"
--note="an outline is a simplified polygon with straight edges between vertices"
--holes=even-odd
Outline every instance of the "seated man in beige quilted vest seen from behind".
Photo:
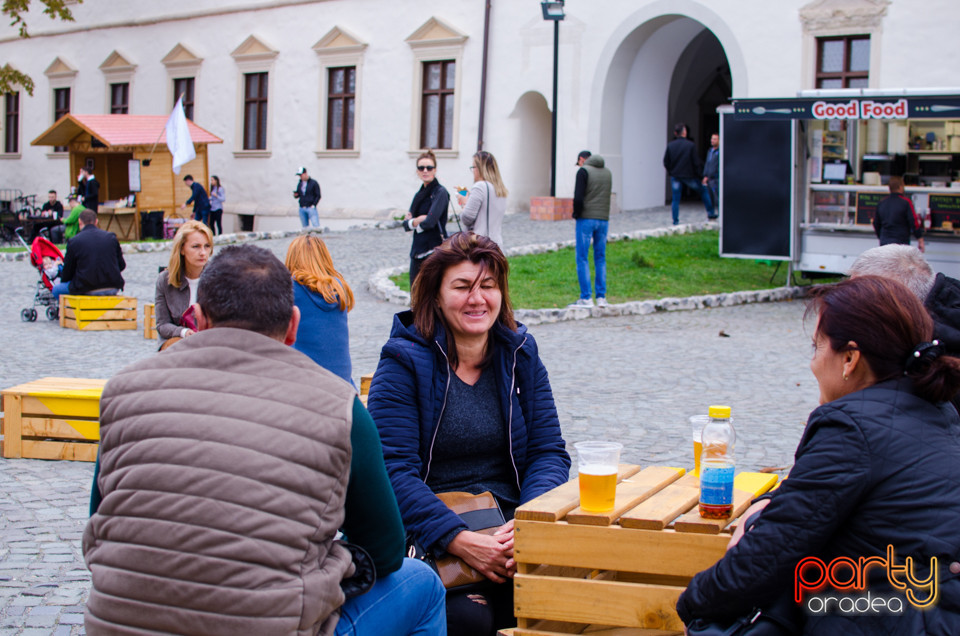
[[289,346],[290,273],[227,247],[194,309],[199,333],[103,391],[87,634],[444,633],[439,578],[403,558],[373,420]]

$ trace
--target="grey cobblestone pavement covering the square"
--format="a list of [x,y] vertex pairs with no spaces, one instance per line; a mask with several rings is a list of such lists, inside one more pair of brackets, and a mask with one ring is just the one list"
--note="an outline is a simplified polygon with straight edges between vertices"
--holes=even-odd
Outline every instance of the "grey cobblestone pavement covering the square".
[[[681,221],[699,221],[698,206]],[[668,208],[614,215],[611,232],[662,227]],[[508,247],[565,240],[573,222],[507,217]],[[350,314],[354,374],[376,368],[396,305],[376,300],[366,281],[377,269],[403,264],[410,236],[402,230],[358,229],[324,235],[334,262],[353,286]],[[259,243],[281,259],[290,239]],[[169,252],[127,256],[126,293],[153,300],[157,267]],[[0,263],[0,386],[39,377],[109,378],[152,355],[142,331],[78,332],[41,315],[20,322],[32,302],[36,271]],[[610,272],[610,286],[616,273]],[[570,290],[570,300],[577,290]],[[625,461],[689,466],[686,418],[708,404],[730,404],[747,469],[791,463],[803,424],[817,403],[808,369],[803,305],[781,302],[537,325],[531,333],[550,372],[568,443],[613,439]],[[720,332],[729,337],[720,336]],[[83,633],[89,575],[80,551],[93,466],[81,462],[0,459],[0,636]]]

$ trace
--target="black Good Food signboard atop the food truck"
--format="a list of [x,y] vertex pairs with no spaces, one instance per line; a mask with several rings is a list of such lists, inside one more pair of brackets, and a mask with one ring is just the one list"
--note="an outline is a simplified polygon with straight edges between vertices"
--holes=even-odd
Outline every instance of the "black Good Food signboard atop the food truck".
[[949,119],[960,117],[960,95],[735,99],[733,113],[738,120]]

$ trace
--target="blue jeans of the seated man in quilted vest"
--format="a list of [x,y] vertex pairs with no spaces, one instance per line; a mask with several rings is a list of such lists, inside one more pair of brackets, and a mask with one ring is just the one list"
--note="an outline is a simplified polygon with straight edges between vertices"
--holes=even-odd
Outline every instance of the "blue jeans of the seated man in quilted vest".
[[429,565],[404,559],[400,569],[340,608],[337,636],[445,636],[446,590]]

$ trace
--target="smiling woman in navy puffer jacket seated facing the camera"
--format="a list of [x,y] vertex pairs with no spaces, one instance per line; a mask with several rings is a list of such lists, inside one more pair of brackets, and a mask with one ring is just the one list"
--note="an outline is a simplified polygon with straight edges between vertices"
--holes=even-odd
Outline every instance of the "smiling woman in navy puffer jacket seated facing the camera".
[[[491,582],[449,592],[451,634],[494,634],[513,621],[513,511],[569,479],[547,371],[513,318],[507,260],[460,232],[426,259],[411,311],[397,314],[369,408],[408,535],[463,559]],[[434,493],[489,491],[507,523],[471,532]]]

